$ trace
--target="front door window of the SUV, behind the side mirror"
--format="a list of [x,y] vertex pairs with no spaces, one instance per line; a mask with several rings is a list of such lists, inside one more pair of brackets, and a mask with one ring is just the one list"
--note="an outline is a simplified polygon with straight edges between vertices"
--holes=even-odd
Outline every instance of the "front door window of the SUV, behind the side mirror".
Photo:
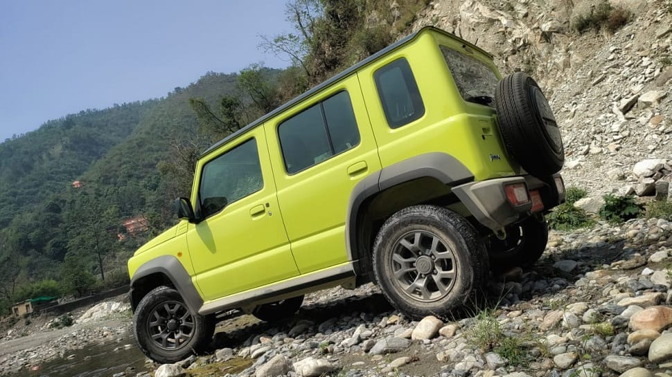
[[264,186],[256,140],[243,142],[203,167],[198,198],[202,217],[220,212],[229,203]]

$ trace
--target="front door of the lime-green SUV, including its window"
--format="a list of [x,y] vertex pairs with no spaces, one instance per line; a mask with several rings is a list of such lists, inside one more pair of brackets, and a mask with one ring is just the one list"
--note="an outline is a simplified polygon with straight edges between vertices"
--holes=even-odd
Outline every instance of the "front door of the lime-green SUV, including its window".
[[204,220],[190,224],[187,242],[205,301],[299,275],[263,127],[202,159],[197,174],[194,205]]

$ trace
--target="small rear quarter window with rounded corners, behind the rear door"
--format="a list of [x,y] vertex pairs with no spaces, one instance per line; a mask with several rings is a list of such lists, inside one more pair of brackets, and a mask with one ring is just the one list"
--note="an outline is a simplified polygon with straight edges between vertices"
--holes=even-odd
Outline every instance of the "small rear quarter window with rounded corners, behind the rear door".
[[382,109],[391,128],[407,125],[425,114],[423,99],[406,59],[398,59],[373,74]]

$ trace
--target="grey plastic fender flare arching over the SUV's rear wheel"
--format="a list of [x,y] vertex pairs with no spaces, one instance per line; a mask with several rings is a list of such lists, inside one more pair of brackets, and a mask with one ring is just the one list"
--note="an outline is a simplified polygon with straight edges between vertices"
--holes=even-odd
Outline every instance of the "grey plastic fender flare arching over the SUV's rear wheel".
[[357,216],[362,203],[371,196],[417,178],[432,177],[445,185],[456,186],[474,180],[472,172],[457,158],[441,152],[430,152],[408,158],[384,167],[378,172],[366,176],[353,188],[348,200],[346,212],[346,248],[348,258],[355,263],[362,255],[357,250]]

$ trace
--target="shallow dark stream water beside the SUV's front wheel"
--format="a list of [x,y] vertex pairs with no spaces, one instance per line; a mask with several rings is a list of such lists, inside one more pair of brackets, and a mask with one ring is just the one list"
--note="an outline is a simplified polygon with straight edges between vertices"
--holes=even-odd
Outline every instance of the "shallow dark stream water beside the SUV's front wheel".
[[[67,351],[64,358],[35,365],[37,370],[23,370],[14,377],[112,377],[133,368],[125,376],[135,376],[145,368],[145,356],[127,336],[120,341],[91,344],[85,349]],[[35,368],[34,367],[34,368]]]

